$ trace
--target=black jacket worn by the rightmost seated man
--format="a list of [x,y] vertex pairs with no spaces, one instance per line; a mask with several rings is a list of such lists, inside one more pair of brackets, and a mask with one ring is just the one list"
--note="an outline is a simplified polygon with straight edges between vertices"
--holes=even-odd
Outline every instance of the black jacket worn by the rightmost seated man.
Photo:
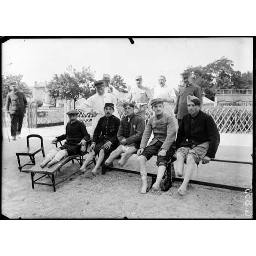
[[213,118],[203,111],[195,117],[186,114],[178,128],[176,149],[209,142],[206,156],[214,158],[220,144],[220,134]]

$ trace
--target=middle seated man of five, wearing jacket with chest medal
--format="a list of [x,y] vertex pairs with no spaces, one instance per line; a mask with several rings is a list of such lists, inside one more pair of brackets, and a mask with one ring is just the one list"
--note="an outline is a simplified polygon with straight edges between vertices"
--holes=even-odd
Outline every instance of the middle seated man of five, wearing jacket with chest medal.
[[119,166],[124,166],[130,156],[137,152],[142,134],[145,129],[145,122],[142,117],[134,113],[134,104],[131,102],[125,102],[123,109],[126,117],[123,117],[120,123],[120,127],[117,133],[117,139],[120,144],[116,150],[114,150],[109,158],[105,161],[107,166],[122,153]]

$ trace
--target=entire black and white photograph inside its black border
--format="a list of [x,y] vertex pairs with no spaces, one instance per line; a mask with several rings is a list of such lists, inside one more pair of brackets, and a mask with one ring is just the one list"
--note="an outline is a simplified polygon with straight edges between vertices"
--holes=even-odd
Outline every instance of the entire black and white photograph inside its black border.
[[2,42],[1,214],[252,219],[253,38]]

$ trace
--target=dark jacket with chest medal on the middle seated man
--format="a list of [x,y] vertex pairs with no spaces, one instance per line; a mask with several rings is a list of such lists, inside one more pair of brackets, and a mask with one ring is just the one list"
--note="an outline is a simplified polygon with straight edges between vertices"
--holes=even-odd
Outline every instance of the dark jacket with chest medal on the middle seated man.
[[135,148],[139,148],[144,130],[145,121],[139,115],[133,114],[130,122],[128,122],[128,117],[123,117],[117,133],[117,139],[120,142],[123,138],[125,138],[127,145],[133,145]]

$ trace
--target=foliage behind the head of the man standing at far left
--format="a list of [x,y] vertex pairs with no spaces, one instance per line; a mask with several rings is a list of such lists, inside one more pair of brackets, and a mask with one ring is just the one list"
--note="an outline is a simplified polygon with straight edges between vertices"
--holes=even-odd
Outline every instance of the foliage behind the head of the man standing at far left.
[[23,75],[7,74],[2,76],[2,96],[6,98],[7,94],[11,91],[10,85],[12,82],[17,82],[18,89],[22,91],[26,97],[32,96],[32,91],[28,87],[27,83],[22,82]]

